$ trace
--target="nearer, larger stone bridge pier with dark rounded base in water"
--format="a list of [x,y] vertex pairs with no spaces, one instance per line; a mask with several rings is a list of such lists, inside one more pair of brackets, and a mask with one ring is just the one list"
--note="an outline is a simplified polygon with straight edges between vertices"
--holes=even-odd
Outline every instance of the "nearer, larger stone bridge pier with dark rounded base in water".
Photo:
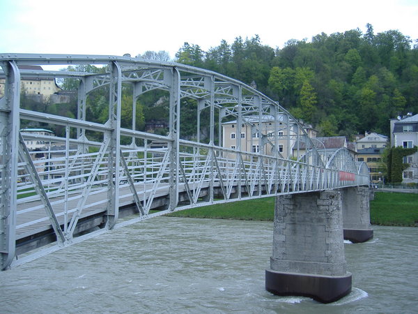
[[338,191],[282,195],[276,199],[273,253],[265,289],[323,303],[351,291]]

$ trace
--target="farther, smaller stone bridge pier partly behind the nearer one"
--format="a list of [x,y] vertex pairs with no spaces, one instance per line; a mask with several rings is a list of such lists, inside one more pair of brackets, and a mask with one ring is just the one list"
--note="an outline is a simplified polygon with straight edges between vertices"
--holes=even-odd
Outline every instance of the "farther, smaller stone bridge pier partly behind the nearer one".
[[369,187],[357,186],[341,189],[343,204],[344,239],[353,243],[373,238],[370,225]]

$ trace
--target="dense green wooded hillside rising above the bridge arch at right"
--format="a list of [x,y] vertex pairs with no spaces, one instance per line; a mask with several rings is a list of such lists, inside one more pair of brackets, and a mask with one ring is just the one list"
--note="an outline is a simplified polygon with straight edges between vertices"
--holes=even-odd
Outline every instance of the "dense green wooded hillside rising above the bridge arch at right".
[[418,112],[418,47],[399,31],[318,34],[274,50],[261,38],[222,40],[208,52],[185,43],[175,61],[215,70],[279,100],[322,135],[375,131],[389,119]]

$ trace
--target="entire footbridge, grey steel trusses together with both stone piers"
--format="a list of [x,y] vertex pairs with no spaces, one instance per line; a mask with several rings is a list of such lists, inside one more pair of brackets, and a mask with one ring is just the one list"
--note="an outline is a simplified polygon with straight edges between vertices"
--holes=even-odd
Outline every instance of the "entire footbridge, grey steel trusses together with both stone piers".
[[[274,196],[266,288],[324,302],[350,292],[343,234],[373,235],[369,170],[347,149],[320,147],[276,101],[209,70],[131,57],[0,54],[0,66],[1,269],[124,223]],[[43,80],[72,82],[77,112],[22,105],[22,85]],[[137,124],[138,101],[155,97],[164,135]],[[94,114],[99,101],[106,121]],[[184,135],[191,119],[194,140]],[[231,121],[237,136],[225,147],[222,124]]]

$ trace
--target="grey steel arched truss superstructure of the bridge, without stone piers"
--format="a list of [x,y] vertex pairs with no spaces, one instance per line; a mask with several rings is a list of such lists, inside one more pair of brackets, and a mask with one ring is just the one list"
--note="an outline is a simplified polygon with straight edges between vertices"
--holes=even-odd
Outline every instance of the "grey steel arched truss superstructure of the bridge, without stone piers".
[[[27,65],[95,65],[103,73],[24,70]],[[329,154],[317,148],[279,103],[209,70],[131,57],[56,54],[0,54],[0,66],[1,269],[33,248],[51,242],[53,249],[61,248],[126,224],[118,219],[135,212],[129,221],[214,203],[369,184],[367,167],[347,149]],[[76,118],[21,107],[22,80],[60,78],[78,84]],[[96,89],[108,95],[104,124],[86,110]],[[136,129],[137,99],[155,90],[169,102],[167,136]],[[130,127],[121,125],[127,94]],[[190,105],[185,99],[196,104],[196,140],[182,136],[182,109]],[[205,139],[202,117],[208,121]],[[265,119],[273,121],[269,132]],[[240,136],[235,149],[224,147],[222,123],[231,120],[236,134],[248,128],[260,135],[251,137],[256,151],[246,151]],[[21,130],[22,121],[61,128],[63,135],[29,133]],[[29,142],[45,147],[31,151]],[[280,143],[285,151],[279,151]],[[155,208],[160,211],[151,214]]]

